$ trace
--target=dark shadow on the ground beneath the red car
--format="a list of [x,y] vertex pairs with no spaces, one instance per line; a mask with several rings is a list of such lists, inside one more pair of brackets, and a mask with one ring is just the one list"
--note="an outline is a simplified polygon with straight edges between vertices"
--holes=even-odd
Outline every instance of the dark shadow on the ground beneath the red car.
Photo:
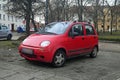
[[[85,63],[86,60],[89,60],[89,59],[91,59],[91,58],[87,55],[69,58],[66,60],[66,64],[63,67],[72,66],[73,64],[76,64],[79,62]],[[52,64],[50,64],[50,63],[45,63],[45,62],[40,62],[40,61],[28,61],[28,60],[26,60],[26,62],[32,66],[35,66],[35,67],[50,68],[50,69],[57,68],[57,67],[52,66]],[[59,67],[59,68],[62,68],[62,67]]]

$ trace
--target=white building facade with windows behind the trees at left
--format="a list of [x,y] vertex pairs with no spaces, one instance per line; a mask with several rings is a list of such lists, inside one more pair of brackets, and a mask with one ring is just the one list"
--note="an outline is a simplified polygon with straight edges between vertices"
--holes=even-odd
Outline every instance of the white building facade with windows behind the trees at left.
[[6,14],[4,11],[6,3],[7,0],[0,0],[0,25],[6,25],[10,30],[15,31],[18,26],[24,26],[22,23],[23,19]]

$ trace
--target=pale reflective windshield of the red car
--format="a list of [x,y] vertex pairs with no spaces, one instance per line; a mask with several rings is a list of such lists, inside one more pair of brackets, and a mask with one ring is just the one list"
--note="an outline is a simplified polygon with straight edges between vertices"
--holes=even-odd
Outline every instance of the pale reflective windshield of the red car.
[[67,27],[69,26],[70,22],[53,22],[40,30],[42,34],[63,34]]

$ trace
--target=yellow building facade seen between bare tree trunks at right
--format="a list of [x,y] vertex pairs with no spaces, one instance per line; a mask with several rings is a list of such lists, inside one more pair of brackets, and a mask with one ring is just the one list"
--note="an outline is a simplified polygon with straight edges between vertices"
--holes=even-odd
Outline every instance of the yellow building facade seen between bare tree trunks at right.
[[[120,6],[117,6],[117,8],[119,8]],[[116,9],[117,9],[116,8]],[[113,10],[115,11],[115,10]],[[120,31],[120,15],[119,14],[114,14],[113,16],[113,21],[112,21],[112,26],[111,26],[111,11],[109,10],[109,8],[105,8],[104,9],[104,15],[105,17],[103,18],[103,16],[99,16],[99,20],[98,20],[98,29],[99,31],[103,31],[103,27],[105,31],[111,31],[111,27],[113,31]],[[103,19],[104,19],[104,26],[103,26]]]

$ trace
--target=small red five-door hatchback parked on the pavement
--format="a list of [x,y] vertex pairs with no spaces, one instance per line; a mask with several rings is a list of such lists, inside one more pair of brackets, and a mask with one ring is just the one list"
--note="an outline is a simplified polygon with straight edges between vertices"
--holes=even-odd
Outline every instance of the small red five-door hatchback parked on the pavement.
[[86,22],[53,22],[27,37],[19,46],[19,53],[27,60],[52,63],[56,67],[66,59],[98,52],[98,35]]

